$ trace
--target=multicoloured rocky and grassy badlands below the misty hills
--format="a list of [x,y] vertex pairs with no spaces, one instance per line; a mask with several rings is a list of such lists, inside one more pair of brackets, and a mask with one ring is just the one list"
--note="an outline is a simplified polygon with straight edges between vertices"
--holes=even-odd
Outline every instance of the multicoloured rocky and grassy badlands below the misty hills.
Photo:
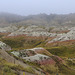
[[0,27],[0,57],[15,63],[8,68],[19,75],[75,75],[74,36],[74,26]]

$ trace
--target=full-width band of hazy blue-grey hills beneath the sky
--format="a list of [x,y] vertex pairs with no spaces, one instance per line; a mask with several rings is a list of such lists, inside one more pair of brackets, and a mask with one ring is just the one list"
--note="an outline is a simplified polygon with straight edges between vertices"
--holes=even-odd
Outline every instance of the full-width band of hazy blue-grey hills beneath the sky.
[[20,16],[10,13],[0,13],[0,26],[15,25],[75,25],[75,13],[71,14],[38,14],[29,16]]

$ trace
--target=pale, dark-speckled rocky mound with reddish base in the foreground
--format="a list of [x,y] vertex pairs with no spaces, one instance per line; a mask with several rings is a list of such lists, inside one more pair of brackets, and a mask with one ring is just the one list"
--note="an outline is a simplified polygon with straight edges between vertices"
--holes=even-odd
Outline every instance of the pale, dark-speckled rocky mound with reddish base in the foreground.
[[33,49],[25,49],[25,50],[21,50],[19,52],[17,51],[13,51],[11,52],[12,54],[14,54],[17,57],[20,57],[26,61],[29,62],[35,62],[37,64],[41,64],[41,65],[55,65],[56,61],[53,59],[57,58],[59,62],[63,63],[63,60],[60,57],[54,56],[52,54],[50,54],[50,56],[48,55],[44,55],[44,54],[40,54],[38,52],[44,51],[44,48],[33,48]]

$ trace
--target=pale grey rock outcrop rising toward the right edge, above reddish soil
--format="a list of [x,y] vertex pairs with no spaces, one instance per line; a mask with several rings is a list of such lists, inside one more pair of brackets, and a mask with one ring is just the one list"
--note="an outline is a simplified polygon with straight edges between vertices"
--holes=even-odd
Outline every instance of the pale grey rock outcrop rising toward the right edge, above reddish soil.
[[66,41],[66,40],[75,40],[75,27],[71,28],[68,33],[61,34],[52,41],[49,41],[48,43],[56,41]]

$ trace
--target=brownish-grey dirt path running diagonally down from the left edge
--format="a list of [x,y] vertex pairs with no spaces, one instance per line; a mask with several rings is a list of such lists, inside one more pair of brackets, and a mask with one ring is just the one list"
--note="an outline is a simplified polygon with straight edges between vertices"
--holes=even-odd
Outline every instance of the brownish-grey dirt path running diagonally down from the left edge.
[[[15,63],[15,64],[17,64],[17,65],[21,65],[22,67],[24,67],[24,68],[26,68],[26,67],[32,67],[32,66],[29,66],[29,65],[27,65],[27,64],[25,64],[25,63],[23,63],[22,61],[20,61],[20,60],[17,60],[17,59],[15,59],[13,56],[10,56],[5,50],[0,50],[0,54],[1,54],[1,56],[6,60],[6,61],[8,61],[9,63]],[[37,71],[36,69],[34,69],[33,67],[32,67],[32,69],[38,74],[38,75],[41,75],[41,72],[40,71]],[[22,73],[22,72],[21,72]],[[27,73],[27,72],[26,72]],[[23,74],[21,74],[21,75],[23,75]],[[28,75],[28,74],[27,74]],[[29,75],[33,75],[33,74],[29,74]],[[42,75],[44,75],[44,74],[42,74]]]

